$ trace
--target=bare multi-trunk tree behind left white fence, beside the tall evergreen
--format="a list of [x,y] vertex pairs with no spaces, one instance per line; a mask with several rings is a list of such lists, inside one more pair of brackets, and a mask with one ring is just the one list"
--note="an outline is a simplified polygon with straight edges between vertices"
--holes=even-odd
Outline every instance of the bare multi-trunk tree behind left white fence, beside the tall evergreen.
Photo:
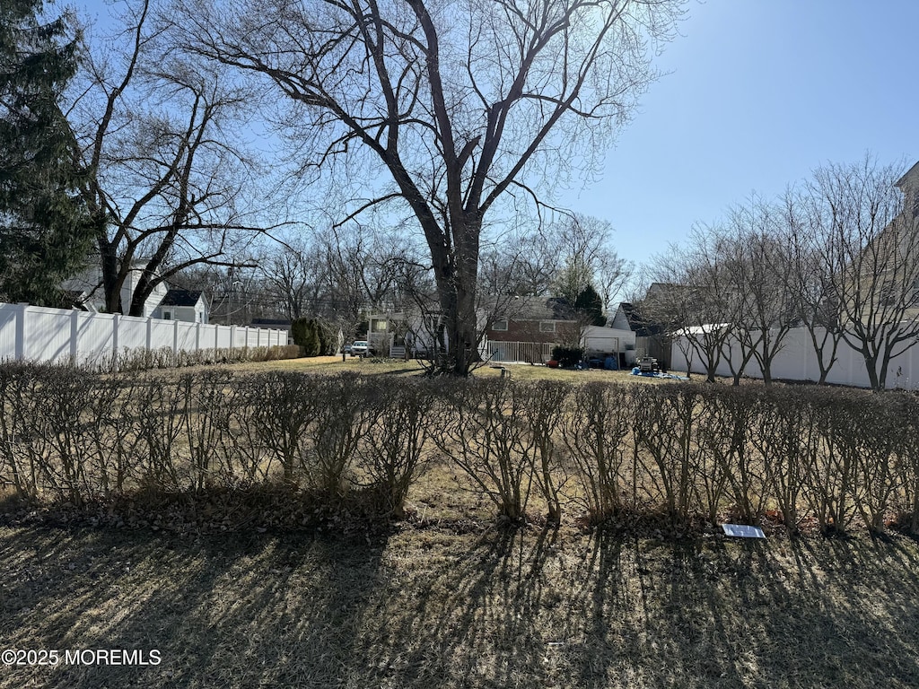
[[188,266],[232,265],[237,233],[257,229],[242,205],[249,161],[235,130],[247,94],[167,51],[152,12],[149,0],[126,6],[120,33],[87,56],[69,115],[93,173],[81,194],[95,218],[106,309],[130,315]]

